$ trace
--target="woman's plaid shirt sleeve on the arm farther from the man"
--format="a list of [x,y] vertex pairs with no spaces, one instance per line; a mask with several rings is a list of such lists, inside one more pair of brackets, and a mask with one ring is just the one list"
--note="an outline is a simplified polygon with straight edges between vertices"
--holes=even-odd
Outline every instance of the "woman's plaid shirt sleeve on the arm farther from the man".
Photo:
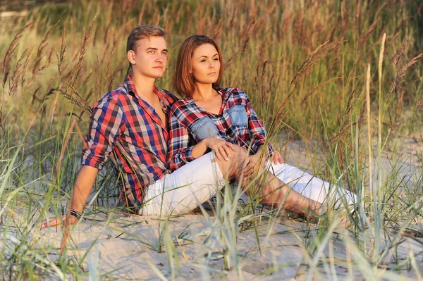
[[[247,111],[248,117],[248,130],[250,130],[251,135],[251,150],[256,154],[259,147],[266,143],[267,132],[264,128],[262,120],[259,119],[259,116],[255,112],[254,108],[252,108],[247,95],[245,95],[245,99],[247,100],[245,104],[245,110]],[[269,147],[269,153],[273,154],[274,147],[271,142],[268,141],[267,145]]]

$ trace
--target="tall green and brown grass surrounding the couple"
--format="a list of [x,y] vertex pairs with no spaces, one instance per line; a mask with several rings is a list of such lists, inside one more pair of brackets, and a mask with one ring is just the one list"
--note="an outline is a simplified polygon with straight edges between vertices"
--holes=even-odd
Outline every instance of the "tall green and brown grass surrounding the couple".
[[[33,8],[0,26],[0,265],[3,279],[99,278],[95,242],[82,258],[72,242],[55,262],[49,245],[39,248],[35,227],[45,218],[63,215],[80,161],[90,106],[115,89],[125,77],[125,42],[138,24],[168,31],[171,50],[166,75],[157,85],[170,89],[178,46],[189,35],[216,39],[223,51],[224,87],[240,87],[250,97],[276,141],[290,134],[314,148],[321,161],[314,173],[357,192],[352,225],[342,239],[355,263],[369,279],[396,278],[381,269],[395,254],[403,235],[422,216],[422,176],[403,175],[396,139],[412,135],[422,142],[422,1],[127,1],[98,4],[75,1]],[[288,140],[283,139],[282,144]],[[282,148],[282,146],[281,146]],[[391,157],[385,171],[382,156]],[[302,167],[309,168],[309,167]],[[118,190],[111,172],[97,177],[90,204],[94,216],[117,210]],[[260,187],[259,177],[250,182]],[[240,232],[255,232],[259,254],[271,235],[280,210],[264,210],[251,196],[240,206],[240,190],[216,197],[210,216],[204,259],[195,264],[204,277],[221,255],[225,276],[243,278],[238,255]],[[104,208],[103,206],[107,206]],[[106,210],[106,211],[105,211]],[[367,217],[370,220],[367,220]],[[317,224],[306,225],[303,251],[306,279],[324,273],[336,277],[333,253],[339,213],[329,210]],[[326,225],[327,222],[329,225]],[[166,252],[171,278],[178,276],[180,239],[171,235],[169,220],[159,224],[151,249]],[[394,231],[393,235],[392,232]],[[384,244],[384,236],[390,240]],[[197,235],[200,235],[198,233]],[[136,237],[136,235],[135,235]],[[149,243],[142,241],[142,243]],[[384,245],[383,245],[384,244]],[[159,245],[159,246],[157,246]],[[158,248],[157,248],[158,247]],[[55,249],[56,250],[56,249]],[[410,268],[417,268],[410,254]],[[400,261],[398,261],[400,264]],[[279,265],[264,274],[277,272]],[[157,275],[165,278],[152,265]],[[352,268],[352,266],[351,266]],[[350,269],[352,271],[352,269]],[[418,270],[417,270],[418,274]]]

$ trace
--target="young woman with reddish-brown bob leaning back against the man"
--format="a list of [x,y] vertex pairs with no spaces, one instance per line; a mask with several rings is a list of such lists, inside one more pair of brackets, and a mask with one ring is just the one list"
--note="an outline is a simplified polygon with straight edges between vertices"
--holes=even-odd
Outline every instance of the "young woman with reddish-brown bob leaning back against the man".
[[281,182],[313,201],[336,208],[355,204],[352,192],[330,187],[329,182],[283,163],[281,154],[266,141],[264,125],[247,95],[238,88],[219,88],[222,74],[221,50],[214,40],[204,35],[185,40],[173,75],[173,87],[185,99],[173,104],[169,113],[171,170],[210,149],[219,160],[228,159],[233,155],[230,144],[236,144],[250,155],[245,159],[245,178],[256,169],[268,168]]

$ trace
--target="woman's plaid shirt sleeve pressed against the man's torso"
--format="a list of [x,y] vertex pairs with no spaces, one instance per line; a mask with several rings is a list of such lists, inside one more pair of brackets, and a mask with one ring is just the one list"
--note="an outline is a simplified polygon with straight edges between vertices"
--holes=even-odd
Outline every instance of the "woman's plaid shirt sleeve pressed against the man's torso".
[[178,108],[171,108],[169,114],[169,141],[168,141],[168,169],[173,171],[185,165],[195,158],[192,157],[190,135],[188,129],[179,122]]

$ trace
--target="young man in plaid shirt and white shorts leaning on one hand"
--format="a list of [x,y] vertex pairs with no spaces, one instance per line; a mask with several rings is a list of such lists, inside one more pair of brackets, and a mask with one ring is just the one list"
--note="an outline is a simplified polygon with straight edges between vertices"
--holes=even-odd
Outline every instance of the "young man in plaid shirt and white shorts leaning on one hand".
[[[167,169],[167,114],[176,97],[154,85],[166,70],[165,35],[157,26],[135,27],[127,42],[130,74],[118,89],[104,94],[94,105],[73,191],[71,224],[80,218],[95,177],[111,153],[121,197],[141,215],[187,213],[214,196],[226,178],[241,173],[245,151],[224,141],[206,146],[223,151],[228,154],[226,158],[219,159],[210,152],[173,173]],[[319,212],[319,203],[291,190],[273,175],[267,182],[260,196],[263,204],[278,206],[284,202],[283,208],[296,213]],[[58,225],[62,220],[54,218],[42,227]]]

